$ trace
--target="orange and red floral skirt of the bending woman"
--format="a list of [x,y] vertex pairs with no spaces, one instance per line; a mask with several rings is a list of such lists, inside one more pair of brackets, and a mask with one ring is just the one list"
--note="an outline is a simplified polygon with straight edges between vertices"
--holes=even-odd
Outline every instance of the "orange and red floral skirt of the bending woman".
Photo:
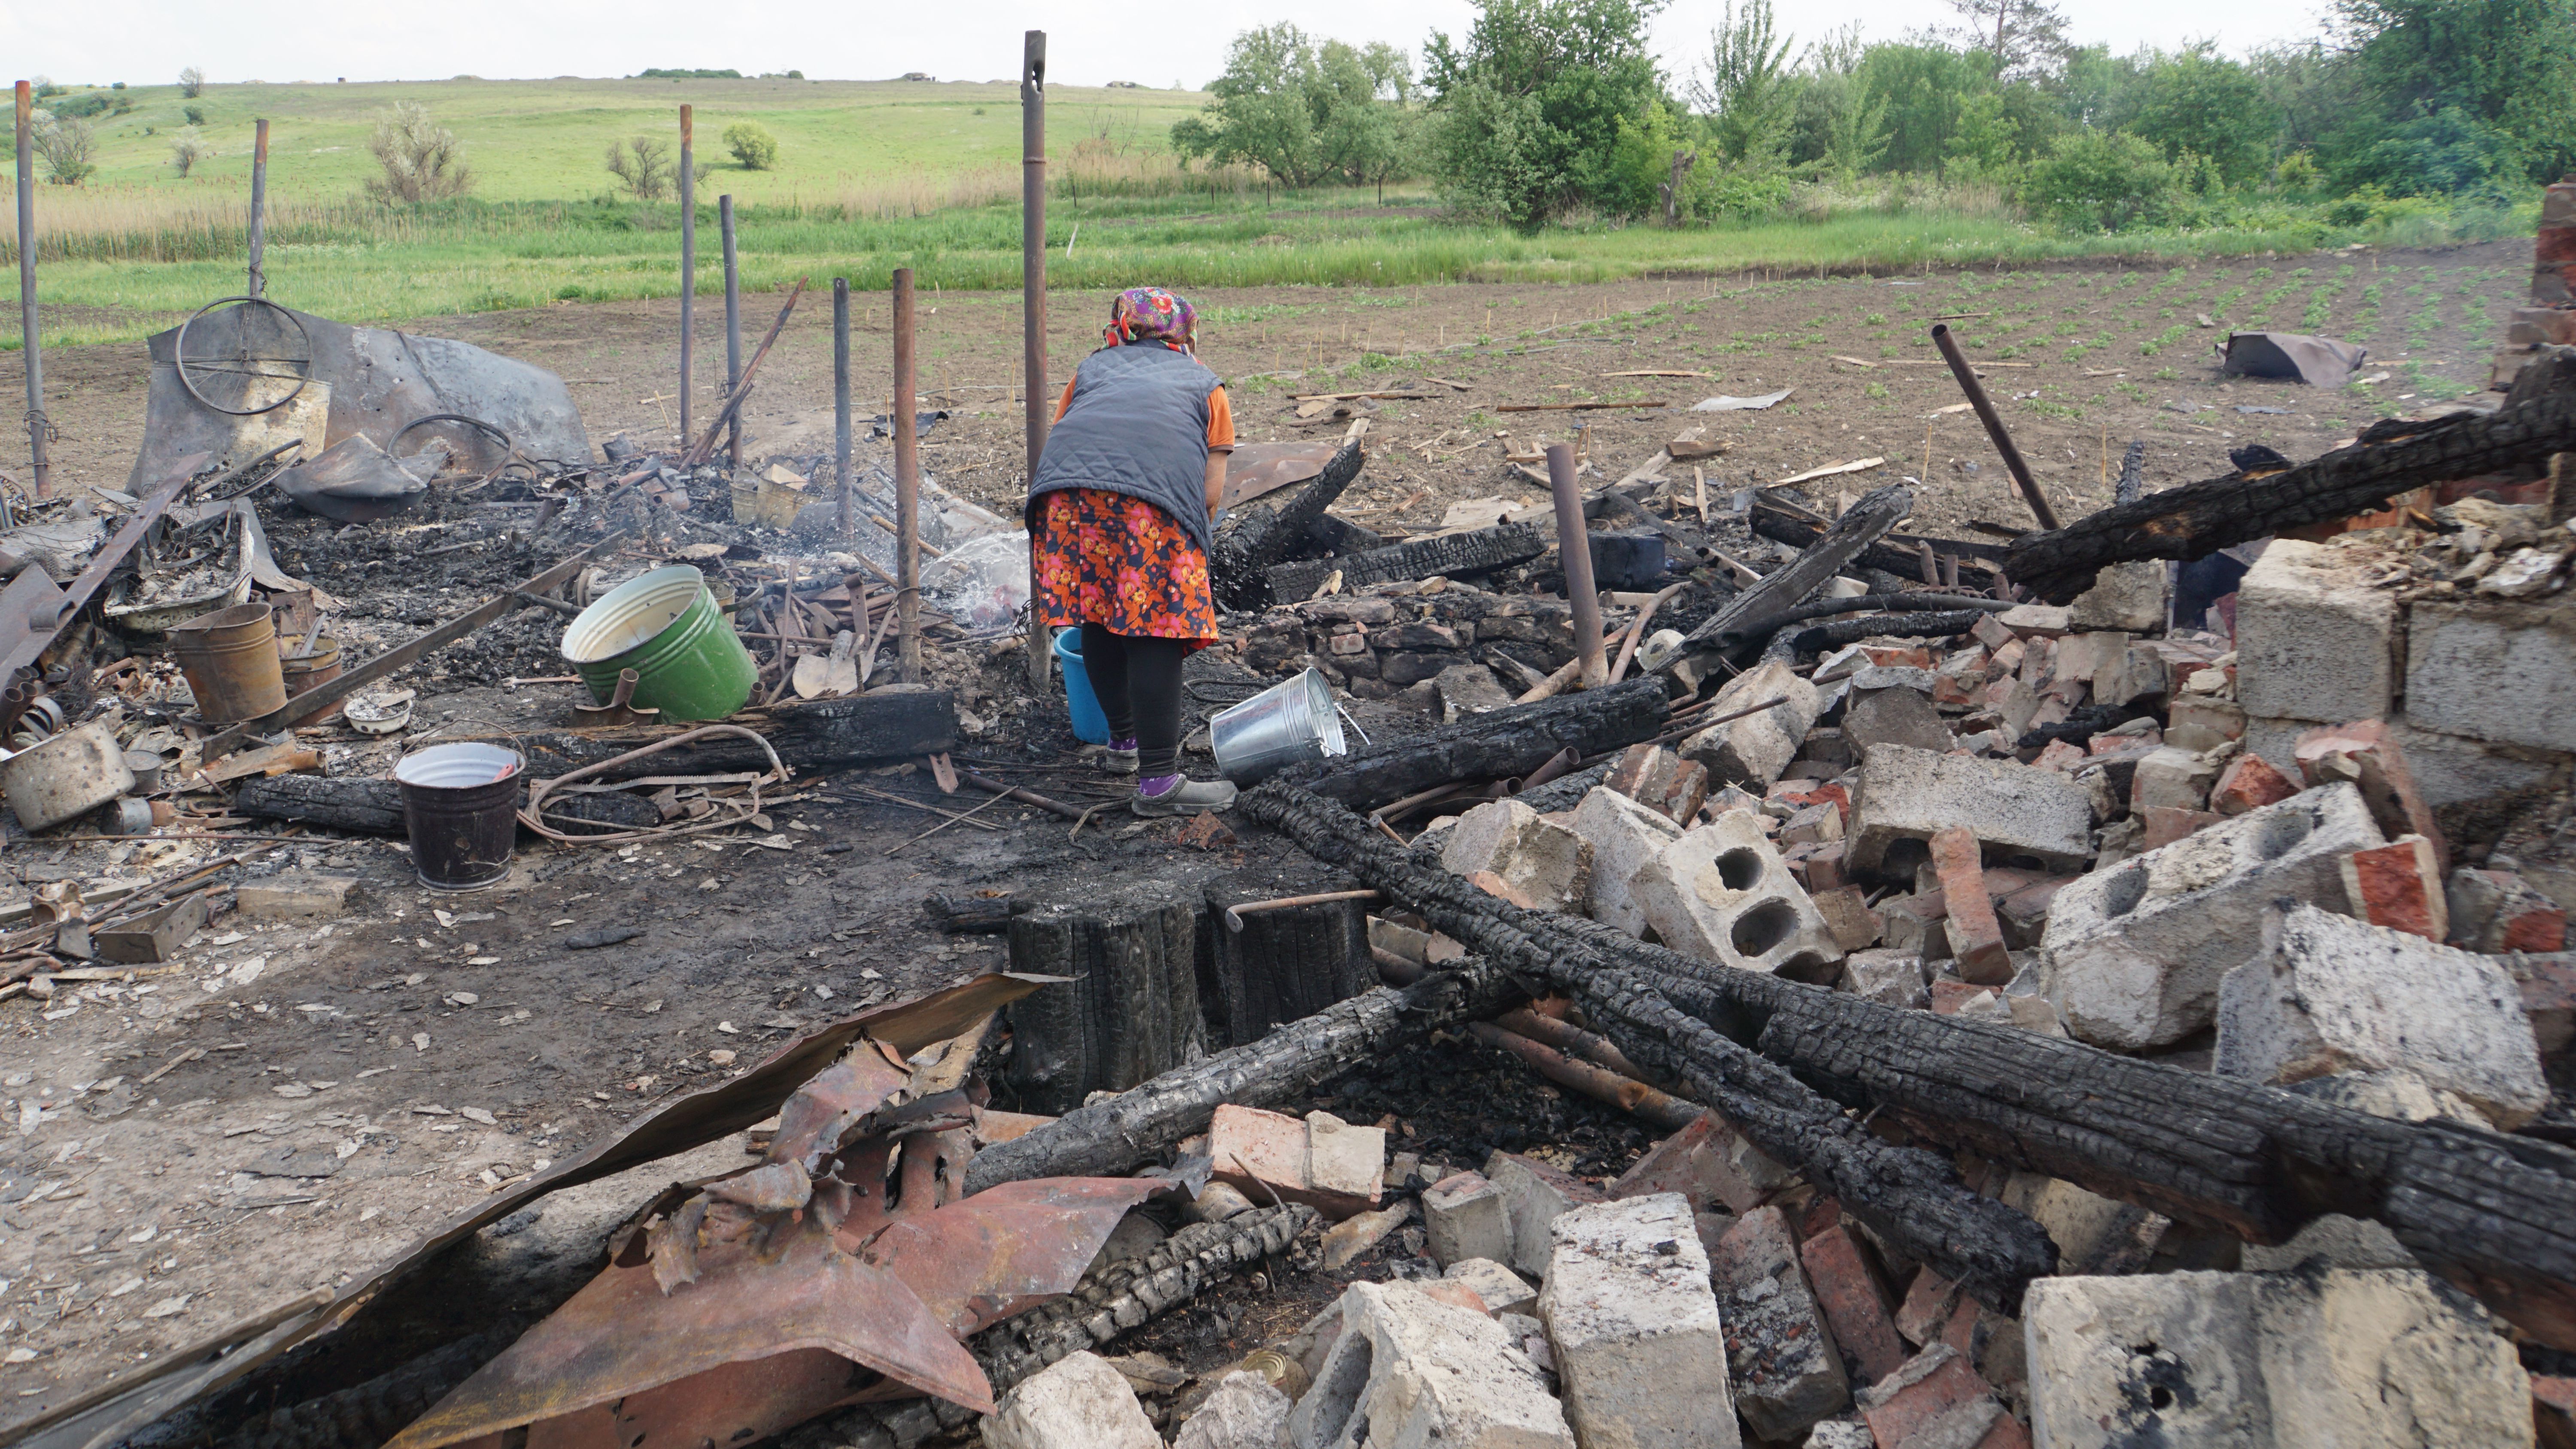
[[1046,623],[1216,643],[1208,556],[1164,510],[1105,489],[1056,489],[1041,494],[1030,538]]

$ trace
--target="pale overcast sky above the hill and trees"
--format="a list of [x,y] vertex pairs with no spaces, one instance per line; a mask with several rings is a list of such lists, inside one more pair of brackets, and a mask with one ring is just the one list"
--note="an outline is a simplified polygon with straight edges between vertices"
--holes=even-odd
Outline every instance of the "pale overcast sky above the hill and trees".
[[[2079,41],[2177,46],[2215,39],[2228,51],[2316,31],[2318,0],[2066,0]],[[1654,23],[1672,75],[1705,49],[1716,0],[1680,0]],[[82,0],[0,5],[0,57],[13,77],[134,85],[170,82],[180,67],[209,80],[443,80],[451,75],[634,75],[644,67],[804,69],[809,77],[881,80],[927,69],[940,80],[1007,80],[1020,31],[1048,31],[1048,77],[1072,85],[1133,80],[1206,85],[1226,41],[1293,15],[1319,36],[1391,41],[1414,51],[1432,31],[1463,33],[1466,0],[953,0],[945,5],[827,5],[737,0],[708,10],[672,0],[443,0],[422,10],[299,5],[247,18],[206,0]],[[1896,39],[1942,23],[1942,0],[1790,0],[1780,26],[1814,39],[1860,21]],[[13,80],[10,77],[10,80]]]

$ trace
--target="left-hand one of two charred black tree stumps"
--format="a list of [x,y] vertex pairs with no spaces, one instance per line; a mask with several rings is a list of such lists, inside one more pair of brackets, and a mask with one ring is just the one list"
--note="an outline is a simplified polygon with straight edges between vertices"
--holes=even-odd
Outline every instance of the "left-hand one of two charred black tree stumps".
[[1010,919],[1010,968],[1072,975],[1010,1004],[1010,1084],[1025,1112],[1064,1114],[1190,1055],[1198,903],[1162,883]]

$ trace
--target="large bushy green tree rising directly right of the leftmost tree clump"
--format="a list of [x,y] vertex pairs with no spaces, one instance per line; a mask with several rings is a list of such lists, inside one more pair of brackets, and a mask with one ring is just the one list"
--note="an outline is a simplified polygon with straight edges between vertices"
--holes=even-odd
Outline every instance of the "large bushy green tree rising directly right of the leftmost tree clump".
[[1646,49],[1662,0],[1479,0],[1461,41],[1435,33],[1425,85],[1450,206],[1535,232],[1615,190],[1620,121],[1664,100]]

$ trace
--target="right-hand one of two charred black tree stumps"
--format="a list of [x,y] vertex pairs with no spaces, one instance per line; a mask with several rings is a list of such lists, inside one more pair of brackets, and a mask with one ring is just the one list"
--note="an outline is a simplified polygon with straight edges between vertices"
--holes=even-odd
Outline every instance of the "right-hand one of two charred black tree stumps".
[[1255,911],[1242,916],[1242,932],[1226,929],[1226,906],[1358,888],[1303,862],[1236,870],[1208,883],[1211,965],[1226,1045],[1257,1042],[1280,1022],[1314,1017],[1378,986],[1368,955],[1368,901]]

